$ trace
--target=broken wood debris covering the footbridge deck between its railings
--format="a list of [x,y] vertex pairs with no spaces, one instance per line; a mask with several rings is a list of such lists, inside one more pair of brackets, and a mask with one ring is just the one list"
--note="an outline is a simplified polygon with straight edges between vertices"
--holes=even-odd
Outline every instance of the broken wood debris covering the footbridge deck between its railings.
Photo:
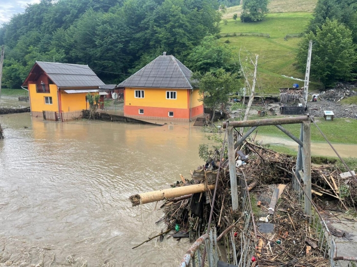
[[[262,216],[268,213],[270,204],[267,200],[272,198],[274,188],[271,185],[259,187],[256,197]],[[274,214],[268,214],[266,219],[269,223],[257,223],[260,238],[256,255],[259,266],[329,266],[328,259],[323,257],[324,248],[320,249],[317,245],[319,233],[310,228],[306,215],[295,200],[291,185],[283,188]]]

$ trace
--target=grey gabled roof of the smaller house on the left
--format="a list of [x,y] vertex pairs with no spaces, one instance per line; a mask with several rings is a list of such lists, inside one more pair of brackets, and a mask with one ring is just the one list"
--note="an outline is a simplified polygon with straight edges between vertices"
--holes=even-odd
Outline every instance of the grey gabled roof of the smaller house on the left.
[[36,62],[58,87],[105,85],[88,65]]

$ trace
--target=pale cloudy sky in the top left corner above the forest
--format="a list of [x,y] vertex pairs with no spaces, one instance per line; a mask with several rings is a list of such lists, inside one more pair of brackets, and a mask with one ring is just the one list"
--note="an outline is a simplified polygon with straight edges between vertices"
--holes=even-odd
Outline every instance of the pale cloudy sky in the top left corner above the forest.
[[39,2],[40,0],[0,0],[0,25],[9,21],[13,14],[24,12],[27,4]]

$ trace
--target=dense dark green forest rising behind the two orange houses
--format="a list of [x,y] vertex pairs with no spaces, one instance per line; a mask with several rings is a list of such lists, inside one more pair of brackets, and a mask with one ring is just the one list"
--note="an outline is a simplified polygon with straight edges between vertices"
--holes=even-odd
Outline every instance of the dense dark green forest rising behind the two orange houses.
[[41,0],[0,28],[3,86],[19,88],[35,61],[89,65],[119,83],[164,51],[185,62],[219,33],[216,0]]

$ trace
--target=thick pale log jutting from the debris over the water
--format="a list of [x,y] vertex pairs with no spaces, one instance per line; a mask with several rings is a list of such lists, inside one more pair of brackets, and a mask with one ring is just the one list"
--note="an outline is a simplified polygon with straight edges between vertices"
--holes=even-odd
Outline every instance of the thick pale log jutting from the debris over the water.
[[214,184],[208,186],[205,184],[194,184],[182,187],[174,187],[133,195],[129,197],[129,200],[131,201],[132,206],[138,206],[140,204],[181,197],[192,193],[204,192],[206,190],[212,190],[214,187]]

